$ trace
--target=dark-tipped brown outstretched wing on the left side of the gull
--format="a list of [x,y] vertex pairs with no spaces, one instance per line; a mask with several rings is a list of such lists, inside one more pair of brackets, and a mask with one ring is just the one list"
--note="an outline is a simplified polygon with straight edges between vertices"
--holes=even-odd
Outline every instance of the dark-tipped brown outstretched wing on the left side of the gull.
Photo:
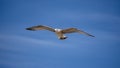
[[48,27],[48,26],[43,26],[43,25],[29,27],[29,28],[26,28],[26,30],[33,30],[33,31],[34,30],[49,30],[49,31],[55,32],[53,28]]

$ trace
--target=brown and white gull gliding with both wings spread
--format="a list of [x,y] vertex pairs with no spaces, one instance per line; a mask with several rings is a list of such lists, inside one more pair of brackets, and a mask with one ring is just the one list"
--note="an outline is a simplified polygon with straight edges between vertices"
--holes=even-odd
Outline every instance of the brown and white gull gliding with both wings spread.
[[37,26],[28,27],[28,28],[26,28],[26,30],[31,30],[31,31],[48,30],[48,31],[54,32],[57,35],[58,39],[60,39],[60,40],[67,39],[68,37],[65,36],[65,34],[69,34],[69,33],[80,33],[80,34],[84,34],[87,36],[95,37],[87,32],[84,32],[83,30],[79,30],[77,28],[59,29],[59,28],[52,28],[52,27],[44,26],[44,25],[37,25]]

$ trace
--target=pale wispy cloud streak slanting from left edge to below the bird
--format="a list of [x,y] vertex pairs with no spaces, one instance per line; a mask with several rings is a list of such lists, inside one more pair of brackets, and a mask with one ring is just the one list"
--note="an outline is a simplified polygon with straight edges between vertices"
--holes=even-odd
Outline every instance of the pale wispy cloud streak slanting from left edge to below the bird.
[[0,35],[0,40],[6,40],[6,42],[18,42],[24,44],[34,44],[34,45],[47,45],[47,46],[64,46],[68,45],[67,43],[58,43],[56,41],[50,40],[42,40],[42,39],[35,39],[25,36],[18,36],[18,35]]

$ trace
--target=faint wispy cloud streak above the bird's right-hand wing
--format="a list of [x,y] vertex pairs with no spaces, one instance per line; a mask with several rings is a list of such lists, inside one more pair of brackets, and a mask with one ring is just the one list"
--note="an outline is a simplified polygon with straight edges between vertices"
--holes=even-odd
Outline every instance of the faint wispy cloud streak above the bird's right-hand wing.
[[88,13],[88,12],[78,12],[78,11],[61,11],[52,13],[49,15],[50,17],[59,17],[61,19],[70,19],[70,20],[116,20],[120,22],[120,17],[112,14],[106,13]]

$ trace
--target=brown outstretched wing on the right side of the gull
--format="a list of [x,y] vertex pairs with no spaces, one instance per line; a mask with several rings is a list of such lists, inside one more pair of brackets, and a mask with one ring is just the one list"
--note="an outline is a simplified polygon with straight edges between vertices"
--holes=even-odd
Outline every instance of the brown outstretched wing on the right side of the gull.
[[63,34],[75,33],[75,32],[79,32],[79,33],[81,33],[81,34],[85,34],[85,35],[87,35],[87,36],[94,37],[93,35],[88,34],[87,32],[84,32],[84,31],[82,31],[82,30],[78,30],[78,29],[76,29],[76,28],[68,28],[68,29],[62,30],[62,33],[63,33]]

